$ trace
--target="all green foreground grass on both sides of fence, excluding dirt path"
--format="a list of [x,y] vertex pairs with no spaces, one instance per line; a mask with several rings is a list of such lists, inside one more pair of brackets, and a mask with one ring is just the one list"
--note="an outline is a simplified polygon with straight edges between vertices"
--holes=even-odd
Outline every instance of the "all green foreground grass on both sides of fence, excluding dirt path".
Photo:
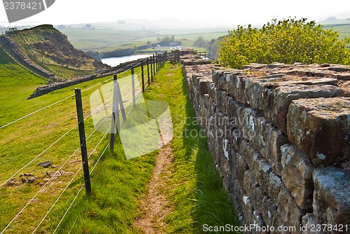
[[[1,53],[1,51],[0,51]],[[99,85],[102,81],[111,78],[105,77],[76,87],[56,90],[48,95],[27,100],[31,92],[41,83],[46,83],[40,76],[31,74],[27,69],[13,62],[3,53],[1,56],[0,80],[1,89],[1,116],[0,125],[14,121],[27,113],[36,111],[73,94],[73,88],[86,90],[97,85],[94,89],[83,92],[83,107],[85,116],[94,108],[92,97],[96,92],[106,89]],[[7,69],[7,70],[6,70]],[[18,72],[17,74],[15,72]],[[137,68],[135,73],[138,74]],[[123,76],[130,75],[130,71]],[[11,78],[11,76],[13,76]],[[123,76],[118,76],[120,87],[127,82]],[[233,223],[235,214],[228,193],[221,187],[221,179],[214,167],[213,159],[207,149],[205,138],[186,137],[183,132],[187,130],[199,131],[199,126],[186,124],[195,116],[192,106],[186,95],[185,83],[181,74],[181,67],[172,67],[167,64],[154,79],[153,85],[145,92],[148,99],[162,100],[169,104],[174,123],[174,149],[175,163],[172,178],[169,181],[169,200],[172,201],[174,212],[167,217],[167,233],[202,233],[204,223]],[[127,90],[123,90],[127,92]],[[133,115],[133,112],[130,113]],[[138,116],[139,117],[139,116]],[[135,121],[138,118],[131,118]],[[128,124],[135,124],[129,121]],[[29,160],[38,156],[52,142],[61,137],[67,130],[76,125],[76,107],[73,97],[55,104],[49,109],[34,114],[13,125],[1,129],[0,135],[0,182],[8,179]],[[20,131],[19,131],[20,130]],[[94,130],[94,121],[87,118],[85,121],[86,135]],[[99,140],[101,144],[97,146]],[[137,141],[137,139],[135,139]],[[108,137],[104,138],[102,132],[95,132],[87,140],[88,153],[91,154],[90,169],[97,163],[104,149],[108,149]],[[2,230],[27,204],[42,184],[49,179],[49,174],[57,168],[42,168],[36,165],[42,161],[50,160],[53,165],[60,166],[71,155],[72,158],[62,167],[63,171],[73,172],[76,175],[64,175],[45,186],[36,198],[18,216],[8,228],[10,233],[31,232],[48,212],[60,192],[69,184],[62,198],[58,200],[46,219],[38,228],[40,233],[52,233],[57,227],[83,184],[82,172],[79,171],[81,162],[79,153],[78,132],[73,129],[63,140],[45,151],[37,160],[34,160],[25,170],[15,175],[15,186],[0,188],[0,229]],[[94,149],[94,147],[96,149]],[[94,149],[94,150],[92,150]],[[115,153],[108,150],[102,160],[92,172],[92,196],[87,197],[85,191],[80,192],[73,203],[71,210],[58,227],[59,233],[137,233],[134,219],[139,216],[139,200],[146,193],[146,185],[151,178],[157,151],[147,155],[125,159],[125,152],[117,137]],[[30,173],[38,177],[33,184],[22,184],[24,177],[20,174]]]

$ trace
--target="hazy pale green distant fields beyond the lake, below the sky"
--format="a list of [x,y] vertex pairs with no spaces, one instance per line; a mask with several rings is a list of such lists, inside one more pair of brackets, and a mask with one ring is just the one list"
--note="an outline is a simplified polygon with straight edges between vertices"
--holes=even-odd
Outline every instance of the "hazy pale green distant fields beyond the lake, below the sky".
[[[341,38],[350,36],[350,20],[334,20],[320,22],[325,28],[338,31]],[[71,25],[60,31],[69,37],[69,40],[80,50],[96,50],[106,52],[121,48],[133,48],[146,45],[147,42],[157,43],[157,39],[165,36],[174,36],[176,41],[181,41],[182,46],[192,47],[193,42],[202,36],[210,41],[228,34],[233,28],[218,29],[181,29],[178,27],[166,29],[164,26],[152,25],[151,22],[127,23],[95,23],[94,29],[84,29],[85,25]]]

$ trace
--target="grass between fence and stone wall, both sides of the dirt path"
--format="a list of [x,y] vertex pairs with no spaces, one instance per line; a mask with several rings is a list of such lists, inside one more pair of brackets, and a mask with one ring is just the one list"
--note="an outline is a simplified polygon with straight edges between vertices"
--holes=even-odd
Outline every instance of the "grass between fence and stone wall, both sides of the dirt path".
[[[175,163],[167,191],[173,212],[167,216],[167,233],[202,233],[202,225],[235,224],[235,213],[227,191],[221,186],[206,139],[183,137],[185,128],[199,131],[186,121],[195,113],[186,95],[181,67],[167,64],[145,92],[148,99],[169,104],[174,124]],[[93,174],[92,198],[81,195],[64,219],[59,233],[138,233],[139,199],[146,190],[155,163],[155,152],[125,160],[120,139],[116,153],[107,154]],[[64,209],[59,211],[61,214]],[[52,223],[55,223],[52,221]]]

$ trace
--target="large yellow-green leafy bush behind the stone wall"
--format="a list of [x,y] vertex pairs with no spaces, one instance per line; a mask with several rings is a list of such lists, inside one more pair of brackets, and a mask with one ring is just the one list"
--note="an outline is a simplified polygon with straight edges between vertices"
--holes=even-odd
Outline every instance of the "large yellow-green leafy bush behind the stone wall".
[[240,68],[251,62],[294,62],[350,64],[349,38],[323,29],[306,18],[273,19],[261,29],[238,26],[224,36],[219,59],[225,66]]

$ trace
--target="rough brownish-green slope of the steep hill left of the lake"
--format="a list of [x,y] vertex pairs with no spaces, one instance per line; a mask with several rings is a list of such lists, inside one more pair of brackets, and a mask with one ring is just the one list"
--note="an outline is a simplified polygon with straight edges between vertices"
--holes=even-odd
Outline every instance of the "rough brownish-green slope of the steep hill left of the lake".
[[66,36],[50,25],[24,29],[7,36],[18,44],[31,61],[62,78],[106,69],[101,62],[73,48]]

